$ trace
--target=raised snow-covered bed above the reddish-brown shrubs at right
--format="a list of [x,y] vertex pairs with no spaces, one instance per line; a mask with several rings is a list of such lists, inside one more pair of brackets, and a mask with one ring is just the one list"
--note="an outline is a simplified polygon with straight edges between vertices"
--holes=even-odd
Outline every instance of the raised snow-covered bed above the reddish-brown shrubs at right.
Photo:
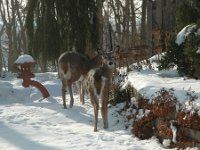
[[[124,84],[133,86],[143,97],[150,101],[159,94],[159,91],[164,88],[172,89],[174,96],[177,97],[181,108],[190,112],[198,110],[200,115],[200,80],[180,77],[176,68],[171,70],[158,71],[157,55],[149,59],[153,69],[148,69],[144,65],[141,71],[130,71],[128,79]],[[132,66],[133,67],[133,66]],[[190,101],[191,97],[195,97],[194,101]]]

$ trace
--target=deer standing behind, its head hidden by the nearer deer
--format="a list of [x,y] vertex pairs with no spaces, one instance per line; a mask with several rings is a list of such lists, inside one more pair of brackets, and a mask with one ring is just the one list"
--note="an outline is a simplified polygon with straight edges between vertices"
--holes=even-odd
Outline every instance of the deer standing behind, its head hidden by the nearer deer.
[[65,52],[60,55],[58,59],[58,74],[62,82],[62,99],[64,108],[67,108],[65,99],[67,87],[70,94],[70,107],[73,107],[74,98],[72,93],[72,84],[76,81],[80,81],[80,101],[84,104],[82,81],[90,69],[100,67],[102,62],[103,58],[100,53],[92,59],[88,59],[86,56],[77,52]]

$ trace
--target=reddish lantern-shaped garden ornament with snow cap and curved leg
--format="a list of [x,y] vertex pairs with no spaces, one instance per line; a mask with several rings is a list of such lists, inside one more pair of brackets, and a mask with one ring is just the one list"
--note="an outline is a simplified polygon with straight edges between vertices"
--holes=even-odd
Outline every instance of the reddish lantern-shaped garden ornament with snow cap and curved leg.
[[30,55],[21,55],[15,61],[15,65],[19,68],[19,73],[17,78],[23,79],[22,85],[26,88],[29,86],[34,86],[43,95],[43,98],[49,97],[49,92],[47,89],[39,82],[35,80],[31,80],[31,78],[35,77],[35,74],[31,71],[33,65],[35,65],[35,60]]

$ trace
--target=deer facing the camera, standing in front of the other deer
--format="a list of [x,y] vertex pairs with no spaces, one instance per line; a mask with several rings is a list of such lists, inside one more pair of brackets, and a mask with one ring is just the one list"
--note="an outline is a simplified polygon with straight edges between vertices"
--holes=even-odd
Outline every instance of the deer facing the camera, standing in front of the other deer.
[[90,96],[91,103],[94,107],[94,132],[97,131],[98,111],[101,107],[104,129],[108,128],[108,100],[111,86],[111,79],[114,72],[114,63],[111,53],[104,57],[103,66],[91,69],[84,79],[84,86]]

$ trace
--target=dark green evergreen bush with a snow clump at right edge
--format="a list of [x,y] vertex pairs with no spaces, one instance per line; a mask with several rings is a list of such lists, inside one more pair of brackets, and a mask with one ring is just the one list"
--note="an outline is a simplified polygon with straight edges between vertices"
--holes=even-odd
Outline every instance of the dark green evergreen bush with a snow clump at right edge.
[[197,24],[184,27],[173,37],[159,69],[177,66],[180,75],[200,77],[200,28]]

